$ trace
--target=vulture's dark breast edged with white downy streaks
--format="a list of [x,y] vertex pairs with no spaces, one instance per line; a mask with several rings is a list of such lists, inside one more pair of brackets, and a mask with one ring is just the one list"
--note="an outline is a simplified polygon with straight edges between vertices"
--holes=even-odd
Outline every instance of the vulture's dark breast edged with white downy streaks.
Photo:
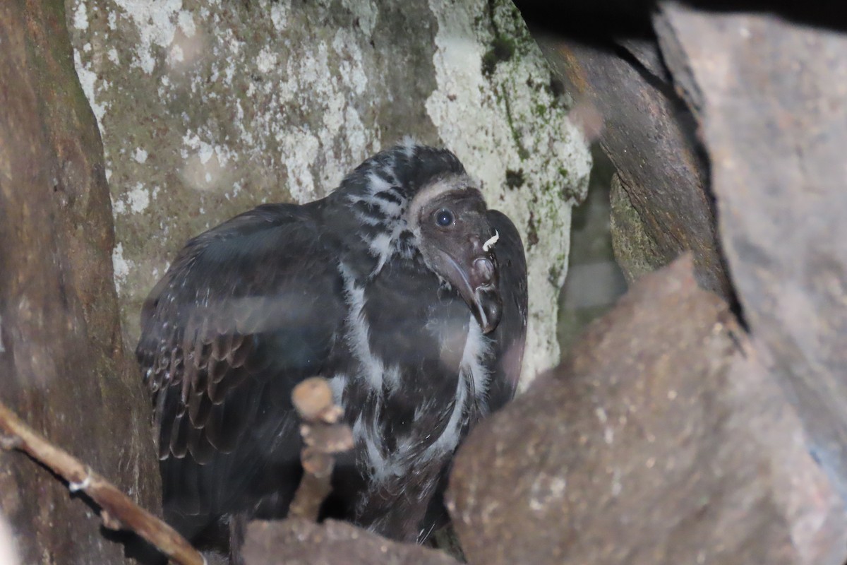
[[[337,381],[357,459],[379,482],[446,461],[484,397],[487,339],[435,276],[346,281],[350,364]],[[343,384],[342,381],[343,380]]]

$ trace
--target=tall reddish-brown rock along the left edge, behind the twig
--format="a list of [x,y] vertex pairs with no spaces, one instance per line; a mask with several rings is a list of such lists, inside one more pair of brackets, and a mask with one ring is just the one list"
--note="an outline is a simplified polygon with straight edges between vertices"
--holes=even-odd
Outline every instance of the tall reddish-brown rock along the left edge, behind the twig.
[[[63,3],[0,3],[0,38],[0,399],[155,512],[147,395],[120,336],[102,146]],[[131,561],[84,500],[13,451],[0,450],[0,515],[21,563]]]

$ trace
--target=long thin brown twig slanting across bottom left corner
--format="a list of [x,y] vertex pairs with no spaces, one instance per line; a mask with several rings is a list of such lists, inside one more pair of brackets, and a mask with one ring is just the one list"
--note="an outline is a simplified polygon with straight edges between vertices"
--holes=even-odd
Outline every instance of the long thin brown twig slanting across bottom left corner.
[[79,490],[100,507],[100,518],[108,529],[130,529],[156,546],[179,565],[204,565],[206,560],[167,523],[136,505],[108,480],[79,459],[26,425],[0,402],[0,447],[24,451],[68,481],[71,492]]

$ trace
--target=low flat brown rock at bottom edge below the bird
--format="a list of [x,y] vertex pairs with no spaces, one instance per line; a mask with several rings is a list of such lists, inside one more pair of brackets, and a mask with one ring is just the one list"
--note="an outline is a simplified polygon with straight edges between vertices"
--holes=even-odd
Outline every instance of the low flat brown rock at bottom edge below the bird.
[[300,518],[252,522],[247,528],[245,565],[458,565],[440,551],[401,544],[349,523]]

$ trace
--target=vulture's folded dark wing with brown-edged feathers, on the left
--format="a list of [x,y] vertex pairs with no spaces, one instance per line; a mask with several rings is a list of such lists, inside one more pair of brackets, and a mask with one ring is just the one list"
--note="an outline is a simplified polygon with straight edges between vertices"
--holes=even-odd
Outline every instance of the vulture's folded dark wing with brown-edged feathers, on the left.
[[344,315],[332,245],[313,208],[256,208],[190,241],[147,298],[136,355],[166,505],[233,512],[296,463],[291,389],[321,372]]

